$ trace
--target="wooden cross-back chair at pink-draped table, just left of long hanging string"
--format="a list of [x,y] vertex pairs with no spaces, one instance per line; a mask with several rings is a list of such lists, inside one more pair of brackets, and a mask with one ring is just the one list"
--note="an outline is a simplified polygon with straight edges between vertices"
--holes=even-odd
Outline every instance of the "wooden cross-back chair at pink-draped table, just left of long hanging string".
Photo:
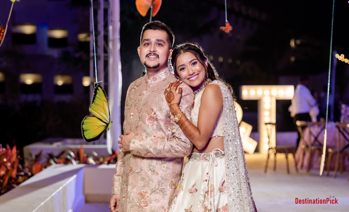
[[[313,134],[313,132],[311,131],[311,128],[313,126],[321,126],[322,129],[320,130],[320,132],[318,132],[316,135]],[[308,141],[306,143],[306,151],[308,151],[309,153],[309,157],[308,157],[308,168],[307,168],[307,172],[310,171],[310,163],[312,162],[312,157],[311,155],[318,150],[320,152],[320,154],[322,154],[322,149],[324,148],[324,146],[321,144],[321,142],[318,140],[318,137],[320,136],[320,134],[322,133],[322,131],[325,130],[325,122],[316,122],[316,123],[312,123],[309,122],[308,123],[308,129],[309,129],[309,135],[308,135]],[[314,138],[314,141],[312,141],[312,138]]]

